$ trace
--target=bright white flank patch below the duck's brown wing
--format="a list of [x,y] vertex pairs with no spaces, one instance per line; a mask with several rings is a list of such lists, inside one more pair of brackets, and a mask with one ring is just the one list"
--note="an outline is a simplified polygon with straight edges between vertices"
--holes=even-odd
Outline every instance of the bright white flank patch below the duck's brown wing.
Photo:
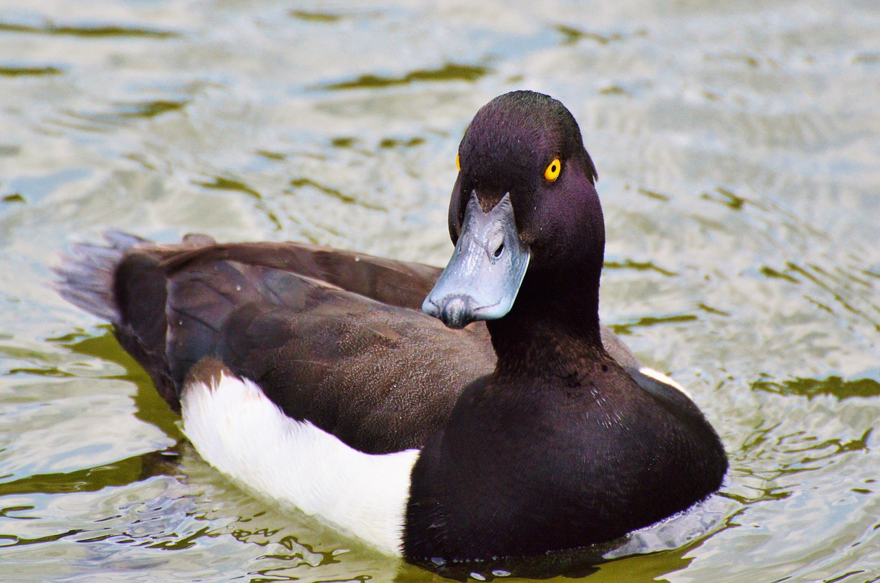
[[187,437],[217,470],[400,556],[418,449],[364,454],[290,419],[251,381],[227,375],[213,387],[188,385],[181,404]]

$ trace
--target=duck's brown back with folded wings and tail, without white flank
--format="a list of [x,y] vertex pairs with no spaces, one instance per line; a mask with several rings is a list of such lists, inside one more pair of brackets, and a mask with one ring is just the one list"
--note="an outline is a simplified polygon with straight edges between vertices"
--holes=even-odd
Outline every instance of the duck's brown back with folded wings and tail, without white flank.
[[178,410],[190,370],[216,359],[291,418],[383,453],[421,447],[495,365],[485,326],[452,331],[418,310],[433,267],[305,244],[109,240],[78,246],[59,288],[109,317]]

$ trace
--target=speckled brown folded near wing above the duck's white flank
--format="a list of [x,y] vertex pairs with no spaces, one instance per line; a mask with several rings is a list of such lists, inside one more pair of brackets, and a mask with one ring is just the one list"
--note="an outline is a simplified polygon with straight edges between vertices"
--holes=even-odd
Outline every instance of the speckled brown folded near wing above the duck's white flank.
[[385,453],[421,447],[460,390],[495,366],[480,334],[326,281],[212,256],[168,280],[167,355],[179,387],[213,356],[289,417]]

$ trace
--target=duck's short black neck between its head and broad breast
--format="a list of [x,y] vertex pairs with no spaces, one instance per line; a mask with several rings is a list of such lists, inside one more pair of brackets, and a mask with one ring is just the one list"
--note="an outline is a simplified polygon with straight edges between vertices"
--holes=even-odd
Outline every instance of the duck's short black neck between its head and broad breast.
[[495,374],[583,374],[605,353],[598,287],[598,269],[528,273],[507,316],[487,322],[498,356]]

